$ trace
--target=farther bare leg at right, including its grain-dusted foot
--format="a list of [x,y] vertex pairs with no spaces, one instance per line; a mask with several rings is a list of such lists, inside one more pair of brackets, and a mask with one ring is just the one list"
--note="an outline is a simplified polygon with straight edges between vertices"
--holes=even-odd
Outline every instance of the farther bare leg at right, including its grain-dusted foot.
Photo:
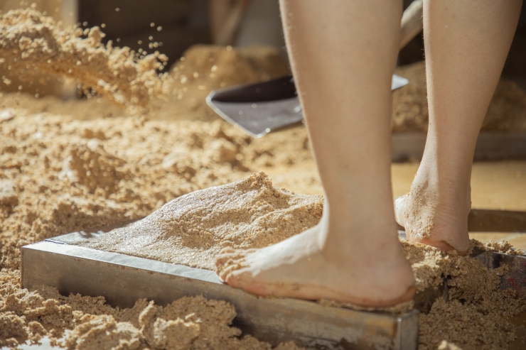
[[411,241],[465,253],[478,131],[517,27],[522,0],[424,0],[429,131],[397,220]]

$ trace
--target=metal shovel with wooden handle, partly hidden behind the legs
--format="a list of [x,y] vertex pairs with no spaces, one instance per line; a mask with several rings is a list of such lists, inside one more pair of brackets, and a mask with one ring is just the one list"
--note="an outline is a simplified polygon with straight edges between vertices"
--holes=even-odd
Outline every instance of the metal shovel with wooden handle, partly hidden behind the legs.
[[[400,49],[422,31],[422,0],[415,0],[404,11]],[[393,75],[391,88],[409,80]],[[254,138],[303,120],[296,86],[291,75],[268,82],[212,91],[206,102],[223,119]]]

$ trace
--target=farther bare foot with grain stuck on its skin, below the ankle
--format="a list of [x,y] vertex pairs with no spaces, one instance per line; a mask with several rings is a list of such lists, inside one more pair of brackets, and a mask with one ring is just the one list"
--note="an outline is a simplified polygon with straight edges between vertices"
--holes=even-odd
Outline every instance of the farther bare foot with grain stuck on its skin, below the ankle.
[[404,226],[409,241],[465,255],[469,248],[469,185],[456,188],[452,182],[451,186],[431,183],[417,175],[411,192],[394,201],[397,222]]

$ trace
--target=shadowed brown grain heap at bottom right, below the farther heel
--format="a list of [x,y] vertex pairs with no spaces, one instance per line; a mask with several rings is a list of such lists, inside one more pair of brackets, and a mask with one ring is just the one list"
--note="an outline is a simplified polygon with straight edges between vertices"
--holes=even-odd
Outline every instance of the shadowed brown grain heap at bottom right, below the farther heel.
[[[521,332],[512,317],[524,314],[526,302],[515,297],[512,290],[498,290],[500,276],[507,272],[505,266],[488,270],[474,258],[446,254],[429,246],[404,243],[404,248],[419,292],[437,288],[444,276],[450,278],[449,302],[439,298],[429,313],[420,316],[420,350],[508,349]],[[473,248],[513,253],[505,243],[483,246],[471,241]]]

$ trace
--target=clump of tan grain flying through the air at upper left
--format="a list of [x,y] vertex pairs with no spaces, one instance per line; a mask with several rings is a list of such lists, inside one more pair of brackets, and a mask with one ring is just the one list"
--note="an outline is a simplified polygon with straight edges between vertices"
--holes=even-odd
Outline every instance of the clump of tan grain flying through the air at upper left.
[[[90,29],[60,28],[53,18],[33,9],[13,10],[0,18],[0,57],[9,70],[31,80],[40,72],[75,78],[84,92],[93,92],[117,104],[146,107],[163,92],[157,70],[166,55],[140,55],[129,48],[102,45],[104,33]],[[9,80],[4,78],[4,84]]]

